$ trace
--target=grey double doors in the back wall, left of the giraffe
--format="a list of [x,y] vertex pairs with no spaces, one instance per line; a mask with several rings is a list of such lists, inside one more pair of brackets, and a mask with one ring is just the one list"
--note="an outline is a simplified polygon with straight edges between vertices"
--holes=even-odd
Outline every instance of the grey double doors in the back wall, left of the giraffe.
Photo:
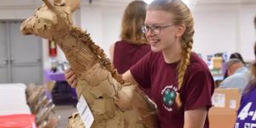
[[[34,35],[25,36],[20,33],[21,22],[6,22],[6,71],[8,82],[43,83],[42,43],[41,38]],[[0,29],[0,33],[1,33]],[[3,32],[4,33],[4,32]],[[1,40],[1,39],[0,39]],[[2,44],[0,44],[1,46]],[[1,48],[0,48],[1,49]],[[1,53],[1,52],[0,52]],[[2,53],[1,53],[2,55]],[[0,58],[5,58],[1,57]],[[9,68],[8,68],[9,67]],[[3,68],[4,69],[4,68]],[[2,71],[3,72],[3,71]],[[0,72],[1,73],[1,72]],[[1,74],[2,76],[2,74]],[[0,82],[5,82],[0,79]]]

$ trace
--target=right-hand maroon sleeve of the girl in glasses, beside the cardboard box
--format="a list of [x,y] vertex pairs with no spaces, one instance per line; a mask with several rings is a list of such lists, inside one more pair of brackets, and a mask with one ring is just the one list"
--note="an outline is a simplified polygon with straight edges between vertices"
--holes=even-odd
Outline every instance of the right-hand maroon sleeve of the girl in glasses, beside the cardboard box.
[[214,81],[209,71],[199,71],[189,79],[186,85],[184,96],[185,111],[204,106],[207,107],[207,109],[211,108]]

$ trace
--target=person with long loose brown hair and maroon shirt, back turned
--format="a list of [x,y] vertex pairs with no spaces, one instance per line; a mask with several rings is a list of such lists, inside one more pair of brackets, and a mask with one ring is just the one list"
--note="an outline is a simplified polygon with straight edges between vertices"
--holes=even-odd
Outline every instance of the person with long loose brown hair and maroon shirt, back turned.
[[110,47],[111,61],[120,74],[129,70],[150,51],[150,45],[140,30],[140,26],[145,21],[146,8],[147,3],[134,0],[129,3],[123,14],[121,41],[117,41]]

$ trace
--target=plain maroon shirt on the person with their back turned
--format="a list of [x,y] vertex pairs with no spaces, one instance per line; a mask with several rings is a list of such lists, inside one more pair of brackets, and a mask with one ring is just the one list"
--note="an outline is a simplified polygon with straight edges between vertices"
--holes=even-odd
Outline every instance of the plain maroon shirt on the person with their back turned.
[[137,61],[150,51],[150,45],[131,44],[127,41],[117,41],[113,54],[113,64],[117,72],[125,73]]

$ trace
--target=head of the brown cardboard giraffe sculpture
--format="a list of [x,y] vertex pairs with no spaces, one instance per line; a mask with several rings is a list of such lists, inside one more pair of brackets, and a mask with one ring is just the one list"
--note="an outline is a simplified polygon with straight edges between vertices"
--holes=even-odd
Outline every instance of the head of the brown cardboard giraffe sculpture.
[[71,14],[80,5],[80,0],[42,0],[44,5],[20,26],[24,35],[38,35],[54,40],[69,32],[73,25]]

